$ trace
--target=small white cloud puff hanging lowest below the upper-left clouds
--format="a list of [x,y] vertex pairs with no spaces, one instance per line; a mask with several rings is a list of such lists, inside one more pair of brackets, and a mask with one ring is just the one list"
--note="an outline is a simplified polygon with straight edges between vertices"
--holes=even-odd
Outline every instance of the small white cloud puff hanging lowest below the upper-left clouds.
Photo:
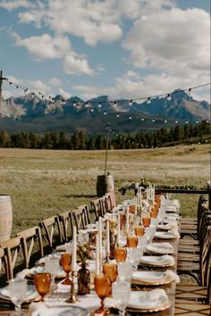
[[89,67],[87,60],[76,54],[66,54],[63,59],[63,71],[69,74],[87,74],[89,76],[94,75]]

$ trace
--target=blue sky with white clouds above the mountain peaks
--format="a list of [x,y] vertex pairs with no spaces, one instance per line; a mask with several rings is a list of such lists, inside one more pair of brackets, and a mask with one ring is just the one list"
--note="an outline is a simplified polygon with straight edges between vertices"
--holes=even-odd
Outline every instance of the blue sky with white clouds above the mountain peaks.
[[4,98],[156,96],[210,82],[210,1],[0,0],[0,43]]

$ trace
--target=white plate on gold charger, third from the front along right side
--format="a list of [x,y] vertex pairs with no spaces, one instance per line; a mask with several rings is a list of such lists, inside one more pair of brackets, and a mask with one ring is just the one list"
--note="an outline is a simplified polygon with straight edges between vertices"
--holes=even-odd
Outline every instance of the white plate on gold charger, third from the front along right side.
[[155,267],[168,267],[174,264],[173,256],[165,255],[143,255],[140,263],[153,265]]

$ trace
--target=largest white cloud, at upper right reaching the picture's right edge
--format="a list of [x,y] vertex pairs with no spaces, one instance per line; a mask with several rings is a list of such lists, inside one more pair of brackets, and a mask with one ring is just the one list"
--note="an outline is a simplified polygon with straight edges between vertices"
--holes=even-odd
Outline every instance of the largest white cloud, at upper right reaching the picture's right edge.
[[210,18],[200,9],[179,8],[148,13],[135,21],[123,47],[135,67],[191,76],[208,72]]

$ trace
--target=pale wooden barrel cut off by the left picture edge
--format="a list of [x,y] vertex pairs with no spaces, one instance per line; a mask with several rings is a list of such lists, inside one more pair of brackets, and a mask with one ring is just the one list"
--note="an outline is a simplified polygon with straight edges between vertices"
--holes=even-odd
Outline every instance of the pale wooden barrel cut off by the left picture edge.
[[0,195],[0,242],[10,239],[13,227],[13,208],[10,195]]

